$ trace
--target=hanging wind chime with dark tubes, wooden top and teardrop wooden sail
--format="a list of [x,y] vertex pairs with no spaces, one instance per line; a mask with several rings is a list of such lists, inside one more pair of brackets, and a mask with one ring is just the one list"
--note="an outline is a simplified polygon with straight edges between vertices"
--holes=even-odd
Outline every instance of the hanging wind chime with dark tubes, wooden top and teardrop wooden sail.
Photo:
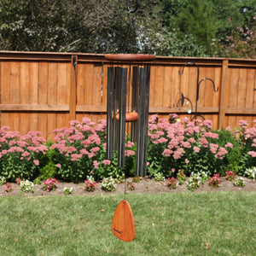
[[[127,8],[129,14],[135,13],[138,0],[135,9],[130,8],[127,0]],[[137,176],[144,177],[147,169],[149,64],[155,55],[108,54],[105,58],[111,64],[108,67],[107,158],[112,159],[113,151],[117,151],[119,167],[125,166],[125,133],[131,131],[131,141],[137,143]],[[126,67],[122,67],[124,64]],[[114,212],[112,231],[122,241],[135,239],[134,218],[125,198]]]

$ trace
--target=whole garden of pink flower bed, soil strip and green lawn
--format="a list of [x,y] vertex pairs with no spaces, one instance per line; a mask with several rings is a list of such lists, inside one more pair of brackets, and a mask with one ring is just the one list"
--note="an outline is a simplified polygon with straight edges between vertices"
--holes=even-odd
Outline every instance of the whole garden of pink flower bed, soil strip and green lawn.
[[[11,255],[253,255],[256,126],[212,129],[209,120],[148,121],[147,177],[106,159],[105,120],[71,121],[54,142],[2,127],[0,253]],[[126,174],[126,179],[124,177]],[[125,185],[124,185],[125,183]],[[125,187],[125,189],[124,189]],[[125,192],[136,239],[111,233]],[[200,192],[200,193],[198,193]]]

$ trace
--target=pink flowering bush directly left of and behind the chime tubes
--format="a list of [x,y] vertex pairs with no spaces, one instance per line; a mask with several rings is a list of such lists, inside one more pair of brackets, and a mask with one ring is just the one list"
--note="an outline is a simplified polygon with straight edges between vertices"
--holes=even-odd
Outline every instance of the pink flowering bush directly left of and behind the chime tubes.
[[[69,128],[56,129],[53,160],[57,167],[57,177],[63,181],[79,182],[87,176],[96,179],[117,177],[123,170],[118,166],[116,152],[113,160],[106,159],[106,120],[97,124],[89,118],[82,122],[71,121]],[[134,160],[134,143],[127,140],[125,149],[125,168],[131,169]]]

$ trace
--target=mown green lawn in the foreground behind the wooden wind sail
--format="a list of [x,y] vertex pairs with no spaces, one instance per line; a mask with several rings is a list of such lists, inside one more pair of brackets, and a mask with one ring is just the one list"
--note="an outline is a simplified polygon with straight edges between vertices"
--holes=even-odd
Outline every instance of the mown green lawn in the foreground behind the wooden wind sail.
[[126,195],[134,241],[111,231],[122,195],[3,197],[0,255],[256,255],[256,193]]

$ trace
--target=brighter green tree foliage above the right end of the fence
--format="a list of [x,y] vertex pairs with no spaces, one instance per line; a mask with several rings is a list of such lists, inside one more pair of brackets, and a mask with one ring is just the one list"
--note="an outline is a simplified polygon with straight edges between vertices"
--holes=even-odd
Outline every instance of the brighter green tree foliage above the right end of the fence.
[[[255,57],[254,39],[248,37],[247,43],[249,44],[232,40],[232,38],[230,40],[230,36],[236,36],[234,32],[237,28],[243,28],[244,32],[255,30],[255,24],[253,25],[255,0],[217,0],[214,2],[210,0],[160,0],[159,2],[166,30],[178,29],[177,38],[179,39],[185,36],[195,38],[195,45],[204,48],[204,55]],[[234,26],[229,20],[232,20]],[[212,38],[213,41],[211,41]],[[226,41],[227,39],[229,41]],[[218,45],[218,41],[225,43]],[[212,48],[210,44],[214,47]]]

